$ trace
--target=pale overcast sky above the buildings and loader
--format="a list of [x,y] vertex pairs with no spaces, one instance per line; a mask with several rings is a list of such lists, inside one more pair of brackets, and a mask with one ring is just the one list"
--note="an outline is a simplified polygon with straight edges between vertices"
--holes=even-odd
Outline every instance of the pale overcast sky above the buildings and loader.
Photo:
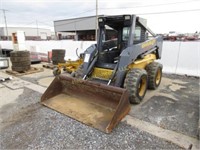
[[[98,13],[138,14],[155,33],[200,32],[200,0],[98,0]],[[53,21],[96,14],[96,0],[0,0],[8,26],[53,29]],[[0,10],[0,26],[5,26]]]

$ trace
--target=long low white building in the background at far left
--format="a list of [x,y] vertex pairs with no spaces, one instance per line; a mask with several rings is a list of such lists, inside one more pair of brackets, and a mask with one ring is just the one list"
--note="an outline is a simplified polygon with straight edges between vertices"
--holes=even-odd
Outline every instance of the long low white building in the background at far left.
[[[51,30],[44,28],[31,28],[31,27],[8,27],[8,36],[11,40],[12,33],[17,31],[24,31],[26,40],[50,40]],[[7,31],[5,27],[0,27],[0,40],[7,39]]]

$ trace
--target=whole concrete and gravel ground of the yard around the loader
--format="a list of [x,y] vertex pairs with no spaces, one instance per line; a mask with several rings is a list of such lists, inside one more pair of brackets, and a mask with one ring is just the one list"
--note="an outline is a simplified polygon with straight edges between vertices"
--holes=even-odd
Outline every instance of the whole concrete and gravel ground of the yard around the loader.
[[[4,76],[9,75],[1,70]],[[44,69],[0,83],[1,149],[199,148],[198,78],[164,74],[160,87],[132,105],[111,134],[42,106],[53,79],[52,70]]]

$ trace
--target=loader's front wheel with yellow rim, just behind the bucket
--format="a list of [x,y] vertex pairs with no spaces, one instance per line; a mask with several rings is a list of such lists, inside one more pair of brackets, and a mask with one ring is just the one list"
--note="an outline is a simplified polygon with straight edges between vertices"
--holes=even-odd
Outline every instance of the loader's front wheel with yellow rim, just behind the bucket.
[[124,88],[129,92],[129,101],[139,104],[147,90],[147,72],[144,69],[132,69],[126,74]]

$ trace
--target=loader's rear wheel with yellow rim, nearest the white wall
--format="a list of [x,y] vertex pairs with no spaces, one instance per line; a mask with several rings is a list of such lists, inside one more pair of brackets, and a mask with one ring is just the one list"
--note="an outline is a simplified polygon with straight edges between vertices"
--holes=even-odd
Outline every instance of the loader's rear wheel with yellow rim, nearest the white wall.
[[162,79],[162,64],[152,62],[146,66],[148,74],[148,89],[155,90],[160,85]]

